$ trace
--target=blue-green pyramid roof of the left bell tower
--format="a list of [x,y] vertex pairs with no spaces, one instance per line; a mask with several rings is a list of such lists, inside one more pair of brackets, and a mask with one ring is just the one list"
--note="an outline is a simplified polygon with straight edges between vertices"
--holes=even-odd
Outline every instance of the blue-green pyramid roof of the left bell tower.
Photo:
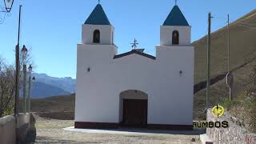
[[85,24],[89,25],[111,25],[109,19],[102,8],[102,5],[98,4],[91,12],[90,16],[86,19]]

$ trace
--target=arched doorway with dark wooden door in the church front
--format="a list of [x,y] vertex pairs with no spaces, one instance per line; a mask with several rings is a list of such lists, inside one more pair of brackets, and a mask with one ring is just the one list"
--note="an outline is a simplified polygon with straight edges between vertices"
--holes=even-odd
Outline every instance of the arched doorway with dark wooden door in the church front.
[[122,126],[146,127],[148,95],[140,90],[120,93],[120,123]]

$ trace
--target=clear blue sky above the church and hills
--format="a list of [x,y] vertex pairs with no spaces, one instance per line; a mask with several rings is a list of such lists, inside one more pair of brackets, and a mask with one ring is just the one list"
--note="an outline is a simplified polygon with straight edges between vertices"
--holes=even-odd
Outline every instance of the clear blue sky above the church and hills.
[[[0,24],[0,55],[14,62],[14,46],[18,34],[18,5],[22,10],[21,44],[32,48],[35,72],[54,77],[76,74],[77,43],[81,42],[82,23],[86,21],[98,0],[15,0],[11,16]],[[137,38],[146,53],[155,54],[162,25],[174,0],[102,0],[111,24],[115,27],[118,53],[129,51],[130,42]],[[0,6],[3,6],[0,0]],[[192,26],[192,41],[206,35],[207,14],[214,16],[212,30],[226,25],[226,14],[231,21],[254,10],[255,0],[178,0],[178,6]],[[1,14],[1,17],[3,15]]]

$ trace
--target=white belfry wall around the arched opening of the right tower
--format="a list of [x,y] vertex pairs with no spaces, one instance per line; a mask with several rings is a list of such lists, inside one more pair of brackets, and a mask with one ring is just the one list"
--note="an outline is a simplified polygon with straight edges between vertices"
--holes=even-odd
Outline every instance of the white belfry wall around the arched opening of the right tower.
[[160,26],[160,45],[172,45],[172,34],[174,30],[178,30],[179,45],[190,46],[191,26]]

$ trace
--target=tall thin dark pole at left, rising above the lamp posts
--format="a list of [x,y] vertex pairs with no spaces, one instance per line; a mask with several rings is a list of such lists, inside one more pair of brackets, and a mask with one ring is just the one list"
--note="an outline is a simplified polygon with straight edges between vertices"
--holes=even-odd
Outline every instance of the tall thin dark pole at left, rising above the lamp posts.
[[20,35],[20,26],[21,26],[21,12],[22,12],[22,5],[19,6],[19,15],[18,15],[18,44],[15,48],[15,55],[16,55],[16,72],[15,72],[15,102],[14,102],[14,115],[15,117],[18,114],[18,90],[19,90],[19,35]]

